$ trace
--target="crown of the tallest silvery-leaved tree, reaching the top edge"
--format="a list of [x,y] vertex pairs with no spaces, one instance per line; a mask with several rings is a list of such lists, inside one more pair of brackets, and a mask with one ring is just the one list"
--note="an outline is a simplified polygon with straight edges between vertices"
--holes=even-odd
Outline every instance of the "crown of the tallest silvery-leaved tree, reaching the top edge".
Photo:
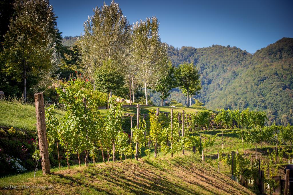
[[129,47],[131,26],[119,4],[105,2],[93,9],[94,15],[84,22],[84,35],[79,40],[86,76],[91,79],[103,61],[113,60],[109,69],[124,71],[125,54]]

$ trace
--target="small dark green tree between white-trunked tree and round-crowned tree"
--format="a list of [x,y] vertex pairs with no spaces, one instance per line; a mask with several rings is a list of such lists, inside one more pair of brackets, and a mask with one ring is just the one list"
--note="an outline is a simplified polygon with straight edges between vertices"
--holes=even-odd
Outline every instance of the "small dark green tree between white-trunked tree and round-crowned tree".
[[166,73],[162,74],[162,76],[156,81],[155,87],[152,90],[153,92],[157,91],[161,93],[161,106],[163,106],[163,100],[170,95],[170,90],[175,88],[176,85],[175,68],[169,61]]

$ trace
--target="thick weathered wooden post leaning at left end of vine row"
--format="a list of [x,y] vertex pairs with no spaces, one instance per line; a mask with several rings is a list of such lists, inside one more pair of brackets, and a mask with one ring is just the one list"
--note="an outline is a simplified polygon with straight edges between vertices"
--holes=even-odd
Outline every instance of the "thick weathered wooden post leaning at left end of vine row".
[[50,174],[50,160],[46,134],[45,105],[43,93],[35,93],[35,107],[37,118],[37,131],[39,137],[40,155],[42,159],[43,175]]

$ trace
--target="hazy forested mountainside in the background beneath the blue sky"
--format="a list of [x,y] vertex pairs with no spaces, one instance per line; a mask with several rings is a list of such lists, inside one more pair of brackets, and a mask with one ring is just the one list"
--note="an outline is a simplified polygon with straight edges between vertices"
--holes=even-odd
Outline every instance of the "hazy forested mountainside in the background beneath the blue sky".
[[[63,44],[71,46],[69,41],[74,45],[70,37]],[[180,49],[170,45],[168,55],[175,66],[184,61],[196,64],[202,90],[195,98],[208,109],[250,107],[266,111],[269,123],[293,124],[292,38],[282,38],[255,54],[229,45]],[[186,96],[178,88],[172,90],[167,101],[172,99],[186,104]],[[151,101],[160,105],[159,93],[151,94]]]

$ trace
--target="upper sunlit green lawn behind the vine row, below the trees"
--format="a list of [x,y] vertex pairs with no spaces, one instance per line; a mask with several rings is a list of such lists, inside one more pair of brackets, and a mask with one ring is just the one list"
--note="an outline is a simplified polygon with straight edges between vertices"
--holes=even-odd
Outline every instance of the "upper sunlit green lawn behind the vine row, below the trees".
[[[155,106],[141,107],[141,114],[149,113],[149,110],[156,110]],[[161,112],[171,112],[171,107],[159,107]],[[174,112],[182,112],[182,107],[173,108]],[[124,113],[136,113],[137,109],[123,108]],[[197,112],[195,108],[185,108],[185,112]],[[107,110],[100,110],[105,116]],[[62,110],[57,110],[57,116],[62,117],[65,114]],[[35,107],[33,105],[23,105],[20,103],[0,101],[0,126],[7,126],[18,129],[35,130],[36,126]]]

